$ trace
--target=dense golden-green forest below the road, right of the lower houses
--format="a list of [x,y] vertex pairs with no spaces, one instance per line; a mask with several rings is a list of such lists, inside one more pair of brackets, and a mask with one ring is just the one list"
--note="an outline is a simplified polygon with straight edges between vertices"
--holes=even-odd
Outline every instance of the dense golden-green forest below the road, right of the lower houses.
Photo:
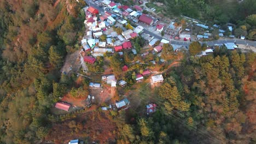
[[161,110],[137,116],[120,143],[255,143],[255,53],[184,59],[153,98]]

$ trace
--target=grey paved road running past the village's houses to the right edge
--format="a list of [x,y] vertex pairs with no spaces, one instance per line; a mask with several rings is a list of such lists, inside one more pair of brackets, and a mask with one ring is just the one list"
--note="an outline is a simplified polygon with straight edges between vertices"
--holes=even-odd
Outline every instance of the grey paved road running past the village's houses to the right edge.
[[[85,0],[85,2],[89,5],[89,6],[92,6],[96,9],[98,9],[100,11],[100,13],[104,13],[104,9],[103,8],[100,8],[98,7],[97,4],[89,1],[89,0]],[[112,13],[111,11],[109,11],[109,13]],[[114,13],[112,13],[114,14]],[[119,17],[121,19],[121,17]],[[133,23],[134,25],[138,26],[137,23]],[[153,32],[150,32],[148,31],[146,28],[143,29],[144,33],[146,34],[149,34],[149,35],[152,35],[153,37],[155,37],[156,39],[162,39],[162,37],[158,34],[155,34]],[[189,44],[191,43],[190,41],[183,41],[183,40],[173,40],[171,39],[171,44],[174,44],[174,45],[183,45],[183,46],[189,46]],[[255,41],[250,41],[250,40],[241,40],[241,39],[224,39],[224,40],[213,40],[213,41],[203,41],[203,42],[200,42],[201,44],[203,43],[206,43],[207,45],[214,45],[214,44],[218,44],[218,45],[221,45],[221,44],[224,44],[224,43],[236,43],[236,44],[243,44],[243,45],[247,45],[248,46],[254,46],[256,47],[256,42]]]

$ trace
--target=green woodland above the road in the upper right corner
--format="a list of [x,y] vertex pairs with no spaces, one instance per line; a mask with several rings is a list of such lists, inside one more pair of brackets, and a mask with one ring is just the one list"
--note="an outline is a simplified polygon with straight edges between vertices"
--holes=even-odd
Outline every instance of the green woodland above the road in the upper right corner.
[[[180,15],[201,20],[207,25],[220,25],[228,30],[227,23],[236,25],[233,33],[236,37],[245,35],[256,40],[256,1],[254,0],[152,0],[165,4],[164,13],[170,17]],[[227,31],[228,32],[228,31]]]

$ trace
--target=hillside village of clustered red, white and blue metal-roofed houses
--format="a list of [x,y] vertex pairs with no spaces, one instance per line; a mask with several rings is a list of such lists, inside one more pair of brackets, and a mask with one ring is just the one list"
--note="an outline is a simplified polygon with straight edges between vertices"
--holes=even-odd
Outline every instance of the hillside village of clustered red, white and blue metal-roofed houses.
[[[132,8],[108,0],[97,4],[104,7],[104,13],[90,5],[83,8],[86,31],[81,40],[82,49],[78,56],[83,74],[80,74],[82,70],[75,71],[78,76],[89,77],[90,91],[88,95],[85,95],[86,98],[82,99],[85,101],[82,106],[85,111],[86,109],[92,110],[92,105],[97,105],[102,111],[121,111],[133,107],[135,101],[130,101],[130,96],[126,95],[129,88],[136,88],[140,85],[139,83],[148,83],[152,88],[159,86],[164,81],[168,69],[178,65],[184,53],[188,52],[188,46],[172,44],[171,39],[194,41],[213,37],[211,33],[203,30],[208,29],[208,26],[194,20],[191,21],[197,23],[196,26],[200,27],[204,33],[192,38],[188,27],[184,28],[176,22],[166,25],[148,14],[143,14],[143,9],[138,5]],[[188,24],[183,23],[183,25]],[[230,31],[232,31],[231,28]],[[144,33],[146,29],[151,29],[158,37]],[[219,37],[223,37],[225,31],[222,29],[218,31]],[[243,39],[242,36],[241,39]],[[228,50],[238,48],[235,43],[227,42],[223,45]],[[196,56],[209,55],[214,52],[216,46],[220,45],[206,45],[206,49],[197,53]],[[119,92],[119,98],[115,98],[114,101],[111,100],[114,97],[113,91],[114,94]],[[110,98],[101,98],[107,93],[112,93],[109,94]],[[148,102],[144,113],[150,115],[156,111],[156,104]],[[56,103],[55,107],[70,112],[77,106],[62,99]],[[80,141],[72,140],[69,143],[80,143]]]

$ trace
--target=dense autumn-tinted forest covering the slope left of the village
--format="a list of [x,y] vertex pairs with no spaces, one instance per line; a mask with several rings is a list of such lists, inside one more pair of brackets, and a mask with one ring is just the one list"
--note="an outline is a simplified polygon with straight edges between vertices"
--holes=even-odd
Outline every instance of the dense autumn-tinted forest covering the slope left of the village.
[[59,68],[80,49],[84,5],[0,1],[0,143],[36,143],[48,134],[49,110],[71,84]]

